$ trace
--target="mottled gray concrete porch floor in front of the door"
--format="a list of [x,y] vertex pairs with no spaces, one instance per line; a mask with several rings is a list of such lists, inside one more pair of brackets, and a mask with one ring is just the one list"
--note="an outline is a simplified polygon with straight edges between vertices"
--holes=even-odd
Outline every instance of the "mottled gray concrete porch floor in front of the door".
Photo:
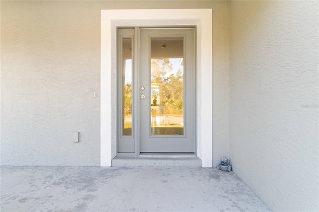
[[201,167],[1,167],[1,212],[270,211],[233,172]]

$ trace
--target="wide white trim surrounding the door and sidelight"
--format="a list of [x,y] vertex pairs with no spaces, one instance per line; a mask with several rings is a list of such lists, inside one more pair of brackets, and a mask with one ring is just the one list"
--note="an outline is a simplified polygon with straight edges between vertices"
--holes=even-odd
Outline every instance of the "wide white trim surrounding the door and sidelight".
[[116,27],[196,25],[197,157],[212,167],[212,9],[101,10],[101,166],[116,155]]

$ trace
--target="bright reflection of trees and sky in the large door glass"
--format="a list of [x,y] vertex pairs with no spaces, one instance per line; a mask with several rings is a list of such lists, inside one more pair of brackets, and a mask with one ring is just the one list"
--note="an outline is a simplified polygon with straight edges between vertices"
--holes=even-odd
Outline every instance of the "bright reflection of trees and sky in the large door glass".
[[151,134],[183,134],[182,58],[151,59]]

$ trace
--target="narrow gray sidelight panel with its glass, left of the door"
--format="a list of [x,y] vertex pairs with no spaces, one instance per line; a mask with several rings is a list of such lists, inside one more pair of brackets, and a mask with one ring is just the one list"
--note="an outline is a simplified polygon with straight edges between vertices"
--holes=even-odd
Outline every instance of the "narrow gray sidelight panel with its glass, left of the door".
[[134,28],[118,29],[118,153],[135,152]]

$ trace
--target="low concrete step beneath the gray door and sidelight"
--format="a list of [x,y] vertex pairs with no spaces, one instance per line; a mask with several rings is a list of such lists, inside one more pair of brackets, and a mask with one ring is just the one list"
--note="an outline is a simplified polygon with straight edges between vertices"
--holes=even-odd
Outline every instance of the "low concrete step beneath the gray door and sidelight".
[[201,160],[196,156],[141,156],[115,157],[112,166],[133,167],[200,167]]

